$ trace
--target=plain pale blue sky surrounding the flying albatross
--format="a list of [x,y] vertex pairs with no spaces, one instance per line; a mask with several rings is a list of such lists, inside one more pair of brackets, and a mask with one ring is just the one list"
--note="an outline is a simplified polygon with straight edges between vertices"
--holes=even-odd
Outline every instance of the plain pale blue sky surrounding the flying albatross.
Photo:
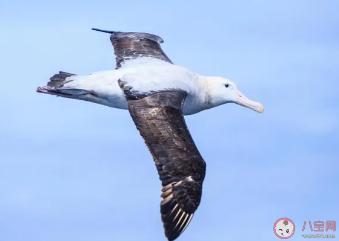
[[207,174],[178,240],[278,241],[273,224],[286,217],[296,241],[316,233],[302,232],[304,221],[339,222],[338,9],[337,0],[1,1],[0,240],[166,240],[161,184],[128,112],[35,92],[60,70],[114,68],[109,35],[92,27],[157,34],[174,63],[228,77],[265,106],[186,117]]

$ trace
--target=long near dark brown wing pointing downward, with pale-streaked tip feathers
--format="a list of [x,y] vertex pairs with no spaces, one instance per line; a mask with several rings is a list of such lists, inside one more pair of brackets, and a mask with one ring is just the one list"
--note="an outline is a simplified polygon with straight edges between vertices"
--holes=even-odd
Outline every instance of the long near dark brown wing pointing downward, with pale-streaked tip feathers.
[[206,165],[187,129],[185,91],[166,91],[142,99],[127,97],[132,119],[153,156],[162,182],[161,218],[165,235],[175,240],[198,208]]

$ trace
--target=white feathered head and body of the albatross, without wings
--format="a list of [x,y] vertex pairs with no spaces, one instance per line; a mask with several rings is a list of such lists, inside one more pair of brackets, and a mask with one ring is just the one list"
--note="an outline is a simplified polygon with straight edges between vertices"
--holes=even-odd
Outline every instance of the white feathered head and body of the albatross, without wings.
[[[90,75],[71,75],[65,79],[62,88],[41,87],[38,88],[38,92],[71,94],[71,96],[63,97],[127,110],[127,101],[119,87],[118,80],[127,82],[127,86],[138,92],[170,89],[186,91],[184,115],[195,114],[224,103],[236,102],[237,88],[230,80],[222,77],[202,76],[185,67],[150,57],[125,61],[121,68],[114,70],[94,72]],[[225,85],[229,87],[225,88]],[[88,94],[84,91],[88,91]],[[259,104],[258,110],[260,109]]]

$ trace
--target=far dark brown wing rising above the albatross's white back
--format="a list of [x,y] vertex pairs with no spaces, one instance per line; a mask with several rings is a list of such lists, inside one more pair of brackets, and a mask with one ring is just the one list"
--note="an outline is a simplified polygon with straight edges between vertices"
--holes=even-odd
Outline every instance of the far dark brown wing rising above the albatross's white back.
[[139,57],[152,57],[173,64],[161,49],[164,42],[159,36],[137,32],[113,32],[111,42],[116,55],[117,68],[125,61]]

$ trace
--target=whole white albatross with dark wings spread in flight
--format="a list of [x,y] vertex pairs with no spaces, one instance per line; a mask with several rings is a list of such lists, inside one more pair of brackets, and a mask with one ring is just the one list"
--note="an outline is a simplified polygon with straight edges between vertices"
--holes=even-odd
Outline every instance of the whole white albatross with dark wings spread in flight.
[[191,222],[202,195],[206,163],[184,115],[226,103],[263,113],[227,78],[203,76],[173,64],[157,35],[109,33],[116,68],[76,75],[60,71],[37,92],[128,110],[151,153],[161,180],[160,213],[165,236],[178,238]]

